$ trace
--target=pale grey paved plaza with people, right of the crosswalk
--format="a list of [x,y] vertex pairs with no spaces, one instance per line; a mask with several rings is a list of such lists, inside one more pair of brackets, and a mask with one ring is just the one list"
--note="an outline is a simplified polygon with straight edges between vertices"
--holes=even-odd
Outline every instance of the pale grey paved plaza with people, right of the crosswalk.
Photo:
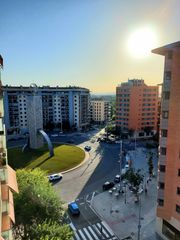
[[[138,161],[138,163],[140,161],[144,162],[144,157],[143,152],[138,151],[135,155],[133,154],[133,161]],[[135,162],[134,165],[136,165]],[[145,167],[145,164],[142,165]],[[118,187],[118,185],[116,187]],[[129,237],[129,239],[138,239],[140,219],[140,239],[155,240],[158,239],[155,234],[156,178],[152,178],[152,180],[149,181],[147,189],[147,194],[145,192],[140,194],[139,203],[134,202],[133,193],[126,187],[126,194],[121,193],[118,197],[115,196],[117,191],[115,189],[112,194],[106,191],[95,196],[91,206],[101,219],[107,222],[119,239],[127,237]]]

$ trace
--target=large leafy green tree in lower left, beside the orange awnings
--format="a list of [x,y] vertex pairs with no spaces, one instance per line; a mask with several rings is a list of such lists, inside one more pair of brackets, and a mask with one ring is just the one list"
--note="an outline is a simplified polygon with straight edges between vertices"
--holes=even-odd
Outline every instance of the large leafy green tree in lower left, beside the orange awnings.
[[17,182],[19,194],[14,195],[14,235],[17,239],[34,239],[32,226],[43,224],[46,219],[51,220],[49,227],[53,227],[52,222],[62,224],[62,202],[50,185],[45,172],[40,169],[18,170]]

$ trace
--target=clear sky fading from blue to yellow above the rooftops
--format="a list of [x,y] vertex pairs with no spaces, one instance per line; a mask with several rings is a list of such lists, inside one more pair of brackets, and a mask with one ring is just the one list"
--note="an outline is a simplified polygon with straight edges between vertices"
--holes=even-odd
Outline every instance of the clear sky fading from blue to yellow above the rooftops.
[[180,40],[179,9],[179,0],[0,0],[2,82],[93,94],[133,78],[162,83],[164,58],[140,52]]

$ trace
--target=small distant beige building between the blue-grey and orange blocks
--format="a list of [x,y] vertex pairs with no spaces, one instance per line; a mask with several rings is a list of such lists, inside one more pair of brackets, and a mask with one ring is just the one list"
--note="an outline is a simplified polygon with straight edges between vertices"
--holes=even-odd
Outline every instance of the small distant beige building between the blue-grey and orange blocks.
[[94,99],[90,102],[90,118],[91,121],[103,124],[111,118],[111,106],[110,102]]

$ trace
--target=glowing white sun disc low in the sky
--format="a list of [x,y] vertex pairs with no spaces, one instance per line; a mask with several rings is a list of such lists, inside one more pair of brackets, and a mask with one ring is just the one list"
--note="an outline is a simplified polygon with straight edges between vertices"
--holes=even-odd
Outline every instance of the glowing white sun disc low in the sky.
[[157,46],[157,34],[150,27],[134,31],[127,42],[128,51],[135,58],[145,58]]

